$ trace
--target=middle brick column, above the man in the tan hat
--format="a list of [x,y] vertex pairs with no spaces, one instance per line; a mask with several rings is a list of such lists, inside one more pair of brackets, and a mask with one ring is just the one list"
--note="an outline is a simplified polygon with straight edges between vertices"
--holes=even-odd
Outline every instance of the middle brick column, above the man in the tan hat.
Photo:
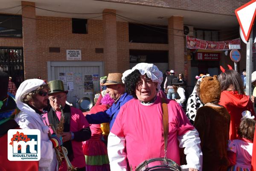
[[105,75],[118,72],[117,39],[116,39],[116,10],[103,10],[103,41]]

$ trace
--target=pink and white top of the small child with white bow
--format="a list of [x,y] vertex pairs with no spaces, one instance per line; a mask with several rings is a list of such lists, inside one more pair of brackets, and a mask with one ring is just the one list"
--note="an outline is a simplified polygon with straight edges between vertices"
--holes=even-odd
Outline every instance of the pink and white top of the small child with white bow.
[[228,141],[228,151],[236,153],[236,165],[232,166],[231,171],[245,170],[250,171],[252,165],[253,142],[247,139],[234,139]]

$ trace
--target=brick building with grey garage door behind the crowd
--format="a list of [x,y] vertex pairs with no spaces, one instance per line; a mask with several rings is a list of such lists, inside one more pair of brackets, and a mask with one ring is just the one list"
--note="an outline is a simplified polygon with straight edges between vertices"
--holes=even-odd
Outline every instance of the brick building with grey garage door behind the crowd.
[[[17,85],[38,76],[59,79],[63,72],[82,73],[80,81],[85,81],[84,75],[124,72],[145,61],[163,72],[183,72],[192,86],[196,72],[216,72],[219,65],[233,62],[224,51],[218,52],[219,61],[196,61],[195,51],[186,49],[185,35],[208,41],[239,38],[234,11],[248,1],[2,0],[0,70]],[[241,45],[240,72],[246,66],[246,45]],[[67,60],[67,50],[81,52],[81,60]],[[99,85],[97,78],[93,81],[95,93]],[[70,98],[81,98],[84,91],[76,89],[83,86],[74,82]]]

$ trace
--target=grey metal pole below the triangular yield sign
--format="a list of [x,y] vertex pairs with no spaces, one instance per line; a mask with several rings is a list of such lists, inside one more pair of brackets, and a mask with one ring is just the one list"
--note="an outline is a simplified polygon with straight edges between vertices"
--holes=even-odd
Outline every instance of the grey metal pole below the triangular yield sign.
[[253,58],[253,32],[250,33],[250,39],[246,45],[246,95],[251,96],[252,91],[252,58]]

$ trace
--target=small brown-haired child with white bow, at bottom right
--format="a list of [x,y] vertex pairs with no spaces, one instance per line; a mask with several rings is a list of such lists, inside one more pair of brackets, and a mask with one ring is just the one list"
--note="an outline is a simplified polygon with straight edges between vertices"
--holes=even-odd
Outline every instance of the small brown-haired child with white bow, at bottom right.
[[239,138],[228,141],[229,160],[232,165],[228,171],[251,171],[256,121],[248,110],[244,111],[242,116],[237,131]]

